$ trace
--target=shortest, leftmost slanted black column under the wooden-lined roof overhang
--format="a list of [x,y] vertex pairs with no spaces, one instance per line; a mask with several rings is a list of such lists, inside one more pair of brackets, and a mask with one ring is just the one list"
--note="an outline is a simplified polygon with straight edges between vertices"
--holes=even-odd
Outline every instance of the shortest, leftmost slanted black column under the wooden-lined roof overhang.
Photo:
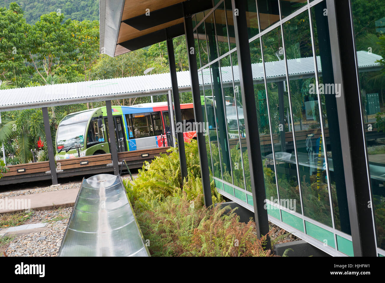
[[[167,38],[167,53],[169,57],[172,97],[174,98],[174,112],[175,112],[175,120],[176,120],[175,122],[182,123],[181,102],[179,101],[179,89],[178,89],[178,81],[176,77],[174,44],[172,43],[172,38]],[[172,107],[172,101],[170,101],[169,103],[170,103],[170,107]],[[171,117],[171,116],[169,117],[170,117],[170,127],[171,127],[171,120],[172,120],[172,123],[174,123],[174,117]],[[186,178],[187,180],[186,152],[184,150],[183,132],[177,132],[177,128],[178,127],[175,128],[176,130],[175,132],[177,135],[178,153],[179,153],[179,160],[181,163],[181,174],[182,174],[182,184],[183,184],[183,179]]]

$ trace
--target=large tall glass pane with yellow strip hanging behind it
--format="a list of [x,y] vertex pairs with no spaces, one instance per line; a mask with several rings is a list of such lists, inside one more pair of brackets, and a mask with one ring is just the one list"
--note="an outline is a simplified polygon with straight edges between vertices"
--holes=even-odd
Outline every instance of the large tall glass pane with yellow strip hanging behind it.
[[[305,11],[283,24],[291,107],[301,176],[304,213],[325,225],[333,226],[326,176],[324,140],[315,86],[315,66],[311,47],[309,12]],[[296,74],[300,73],[298,76]],[[303,73],[313,73],[303,78]]]

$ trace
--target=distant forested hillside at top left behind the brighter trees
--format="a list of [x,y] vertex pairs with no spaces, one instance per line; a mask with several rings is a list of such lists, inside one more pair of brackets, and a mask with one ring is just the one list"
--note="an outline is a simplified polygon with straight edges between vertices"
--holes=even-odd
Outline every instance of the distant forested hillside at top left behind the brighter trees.
[[[98,20],[98,0],[0,0],[0,7],[9,7],[9,4],[16,2],[24,11],[24,18],[29,24],[40,20],[40,16],[50,12],[64,14],[64,19],[72,20]],[[58,10],[60,9],[60,10]]]

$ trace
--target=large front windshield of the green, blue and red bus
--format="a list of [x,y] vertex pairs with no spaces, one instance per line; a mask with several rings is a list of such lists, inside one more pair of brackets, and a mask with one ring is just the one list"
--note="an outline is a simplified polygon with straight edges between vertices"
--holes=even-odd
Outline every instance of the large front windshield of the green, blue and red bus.
[[65,150],[66,148],[70,148],[78,143],[83,146],[87,123],[88,122],[85,121],[68,125],[59,125],[59,128],[57,128],[56,138],[57,149]]

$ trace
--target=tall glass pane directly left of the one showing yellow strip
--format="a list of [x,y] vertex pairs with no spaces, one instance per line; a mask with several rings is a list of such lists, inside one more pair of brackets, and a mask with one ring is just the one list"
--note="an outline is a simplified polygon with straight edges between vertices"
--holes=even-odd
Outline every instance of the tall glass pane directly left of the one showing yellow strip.
[[[263,35],[262,42],[280,199],[291,200],[283,204],[286,208],[301,213],[281,28]],[[272,160],[273,154],[266,158]],[[295,203],[295,206],[288,203]]]

